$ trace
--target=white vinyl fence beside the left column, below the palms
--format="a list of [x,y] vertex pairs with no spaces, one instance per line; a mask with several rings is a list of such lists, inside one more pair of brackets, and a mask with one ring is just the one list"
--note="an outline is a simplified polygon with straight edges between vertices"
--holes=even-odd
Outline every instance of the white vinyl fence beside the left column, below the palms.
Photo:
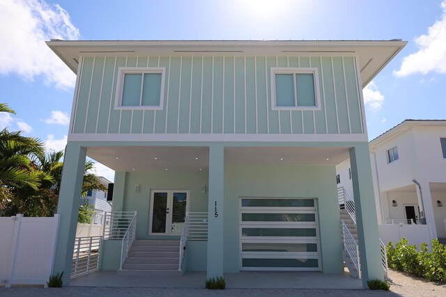
[[52,275],[59,215],[0,218],[0,282],[43,284]]

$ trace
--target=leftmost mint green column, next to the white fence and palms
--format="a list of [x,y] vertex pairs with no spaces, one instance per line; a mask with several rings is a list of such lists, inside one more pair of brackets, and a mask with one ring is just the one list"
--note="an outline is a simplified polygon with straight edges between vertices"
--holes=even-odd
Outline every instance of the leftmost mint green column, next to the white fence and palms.
[[60,215],[53,273],[63,271],[63,285],[70,282],[72,252],[84,179],[86,148],[68,143],[63,156],[63,170],[57,214]]

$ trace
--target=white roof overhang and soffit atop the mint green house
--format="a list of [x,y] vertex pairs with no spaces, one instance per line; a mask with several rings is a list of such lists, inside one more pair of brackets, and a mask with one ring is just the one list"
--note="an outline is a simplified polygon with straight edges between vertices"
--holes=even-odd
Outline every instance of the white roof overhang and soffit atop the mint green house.
[[357,56],[366,86],[406,41],[75,41],[47,45],[77,72],[80,56]]

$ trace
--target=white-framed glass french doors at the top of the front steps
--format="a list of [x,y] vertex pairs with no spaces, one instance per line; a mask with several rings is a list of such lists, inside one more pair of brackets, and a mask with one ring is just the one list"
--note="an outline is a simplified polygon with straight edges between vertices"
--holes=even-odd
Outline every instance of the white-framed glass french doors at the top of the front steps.
[[189,191],[151,191],[149,235],[179,235],[183,232]]

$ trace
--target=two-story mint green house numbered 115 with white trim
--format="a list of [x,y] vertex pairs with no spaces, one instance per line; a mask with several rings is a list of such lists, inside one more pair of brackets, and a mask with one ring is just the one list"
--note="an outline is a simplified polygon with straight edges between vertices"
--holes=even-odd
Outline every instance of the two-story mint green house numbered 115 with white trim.
[[116,171],[112,211],[137,212],[130,252],[104,240],[102,270],[156,273],[153,251],[209,278],[343,273],[335,165],[350,158],[362,280],[383,279],[362,88],[406,42],[47,45],[77,74],[54,273],[71,268],[86,156]]

